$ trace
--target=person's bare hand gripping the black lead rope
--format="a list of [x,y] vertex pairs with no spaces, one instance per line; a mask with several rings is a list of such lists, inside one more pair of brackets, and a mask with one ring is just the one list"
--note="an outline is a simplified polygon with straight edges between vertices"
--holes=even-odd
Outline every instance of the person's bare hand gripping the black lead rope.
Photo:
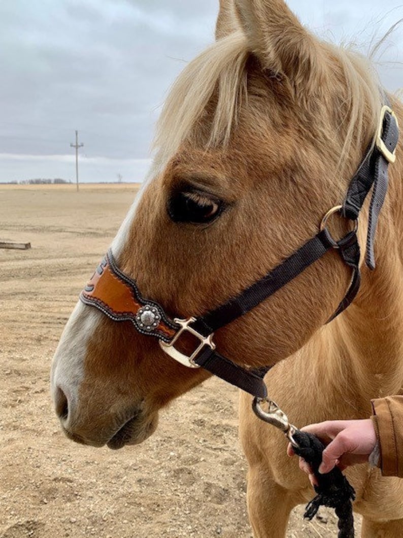
[[[331,471],[335,465],[343,470],[349,465],[368,462],[377,442],[371,419],[328,420],[305,426],[301,431],[316,435],[327,445],[319,466],[321,474]],[[291,444],[287,447],[287,454],[294,456]],[[312,485],[318,485],[310,465],[303,458],[299,458],[299,467],[307,473]]]

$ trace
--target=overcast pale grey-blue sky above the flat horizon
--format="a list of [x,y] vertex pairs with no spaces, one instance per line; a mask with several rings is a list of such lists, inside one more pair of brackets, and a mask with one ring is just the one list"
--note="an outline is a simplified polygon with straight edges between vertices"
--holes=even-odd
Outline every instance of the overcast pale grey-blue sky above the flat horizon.
[[[366,52],[403,18],[403,0],[289,0],[316,34]],[[0,1],[0,182],[141,181],[175,76],[213,41],[218,0]],[[403,25],[379,67],[403,86]],[[394,65],[393,65],[394,64]]]

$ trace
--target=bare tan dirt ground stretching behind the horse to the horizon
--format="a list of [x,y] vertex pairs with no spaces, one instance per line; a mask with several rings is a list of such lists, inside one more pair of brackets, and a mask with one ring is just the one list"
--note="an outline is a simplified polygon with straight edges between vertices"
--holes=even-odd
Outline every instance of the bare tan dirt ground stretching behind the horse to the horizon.
[[[207,381],[120,451],[67,440],[52,409],[63,325],[136,188],[0,185],[0,240],[32,244],[0,250],[0,538],[251,537],[234,388]],[[302,513],[287,538],[337,535]]]

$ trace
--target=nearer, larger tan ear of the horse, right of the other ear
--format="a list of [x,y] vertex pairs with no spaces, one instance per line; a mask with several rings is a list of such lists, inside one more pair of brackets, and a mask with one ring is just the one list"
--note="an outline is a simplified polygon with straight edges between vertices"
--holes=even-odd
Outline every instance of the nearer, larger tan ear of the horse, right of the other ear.
[[322,79],[318,41],[283,0],[234,0],[236,16],[264,69],[285,75],[296,92],[318,90]]

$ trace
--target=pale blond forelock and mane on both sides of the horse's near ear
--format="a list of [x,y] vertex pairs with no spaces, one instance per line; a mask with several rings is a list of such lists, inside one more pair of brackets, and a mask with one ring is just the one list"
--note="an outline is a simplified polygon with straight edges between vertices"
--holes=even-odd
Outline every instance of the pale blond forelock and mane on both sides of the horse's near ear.
[[[348,46],[323,41],[320,46],[324,53],[322,57],[328,59],[326,84],[338,83],[340,86],[333,90],[341,99],[340,107],[333,104],[330,109],[339,109],[335,110],[335,115],[339,130],[342,129],[341,164],[352,145],[362,144],[365,136],[365,144],[368,144],[367,133],[375,141],[383,101],[382,89],[369,59]],[[228,143],[240,105],[248,98],[247,61],[250,55],[247,38],[239,30],[216,41],[184,68],[170,90],[157,123],[153,144],[157,150],[156,167],[176,153],[194,130],[198,119],[205,114],[213,95],[217,95],[217,103],[205,149]],[[326,84],[316,91],[324,96],[325,107],[329,109],[326,94],[330,95],[331,91]],[[308,90],[312,89],[307,88],[307,93]],[[312,115],[318,117],[318,111],[312,112]],[[325,125],[322,130],[327,131],[327,138],[333,140],[334,126],[332,129]]]

